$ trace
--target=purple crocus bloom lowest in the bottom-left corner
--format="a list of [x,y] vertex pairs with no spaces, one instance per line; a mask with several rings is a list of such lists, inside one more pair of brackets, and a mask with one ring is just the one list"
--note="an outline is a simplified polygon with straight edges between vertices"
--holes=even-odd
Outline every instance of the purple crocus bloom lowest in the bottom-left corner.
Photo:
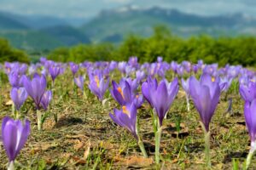
[[15,161],[20,150],[24,147],[30,134],[30,122],[22,124],[19,120],[13,120],[9,116],[3,118],[2,139],[3,147],[9,157],[9,162]]

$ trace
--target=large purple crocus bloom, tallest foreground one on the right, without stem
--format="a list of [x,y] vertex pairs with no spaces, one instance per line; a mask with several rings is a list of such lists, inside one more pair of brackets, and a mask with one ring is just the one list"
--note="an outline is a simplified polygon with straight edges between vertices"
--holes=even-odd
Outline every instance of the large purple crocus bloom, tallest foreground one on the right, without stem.
[[201,116],[201,122],[208,132],[209,123],[218,105],[220,96],[218,82],[214,82],[214,79],[210,75],[203,74],[200,81],[197,81],[195,77],[190,77],[189,88],[195,108]]

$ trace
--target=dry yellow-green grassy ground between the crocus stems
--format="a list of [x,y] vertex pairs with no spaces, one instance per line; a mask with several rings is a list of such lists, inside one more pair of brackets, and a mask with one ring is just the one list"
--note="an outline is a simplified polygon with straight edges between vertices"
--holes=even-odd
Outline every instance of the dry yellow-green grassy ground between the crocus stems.
[[[136,140],[108,116],[117,106],[116,102],[109,99],[103,108],[93,94],[88,93],[88,99],[84,99],[80,91],[77,95],[73,93],[71,81],[65,76],[57,78],[54,104],[50,105],[43,132],[37,130],[32,100],[27,100],[22,107],[22,116],[31,121],[32,133],[16,159],[19,169],[205,169],[199,116],[192,102],[192,111],[186,111],[182,92],[164,120],[161,164],[157,167],[154,165],[154,132],[148,104],[145,103],[138,113],[141,135],[149,155],[148,159],[143,159]],[[9,90],[8,82],[3,80],[1,119],[11,116],[11,106],[5,105],[9,101]],[[109,93],[106,96],[110,98]],[[228,102],[223,95],[211,123],[212,169],[231,169],[233,158],[238,158],[241,166],[249,149],[243,102],[237,89],[230,89],[228,97],[233,99],[233,114],[229,117],[224,114]],[[57,123],[54,113],[59,116]],[[182,119],[177,135],[175,122],[178,115]],[[0,156],[0,168],[3,169],[8,163],[3,147]],[[255,162],[252,167],[256,167]]]

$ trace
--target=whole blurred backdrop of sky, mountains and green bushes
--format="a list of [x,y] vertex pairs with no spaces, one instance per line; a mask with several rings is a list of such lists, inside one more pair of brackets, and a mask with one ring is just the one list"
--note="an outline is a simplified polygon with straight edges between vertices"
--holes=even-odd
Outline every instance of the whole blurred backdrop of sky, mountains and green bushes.
[[0,61],[16,55],[27,56],[24,61],[42,55],[78,62],[137,55],[151,61],[162,55],[250,65],[255,8],[253,0],[0,0],[2,49],[18,53],[2,54]]

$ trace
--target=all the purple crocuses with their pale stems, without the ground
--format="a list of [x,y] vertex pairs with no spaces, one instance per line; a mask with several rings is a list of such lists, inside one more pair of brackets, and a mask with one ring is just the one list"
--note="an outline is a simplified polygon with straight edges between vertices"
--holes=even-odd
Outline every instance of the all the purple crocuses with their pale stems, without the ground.
[[[128,62],[88,62],[75,64],[57,63],[45,58],[41,58],[37,64],[26,65],[20,63],[6,62],[0,65],[9,77],[11,84],[10,96],[14,103],[14,117],[19,119],[19,111],[29,95],[35,103],[38,116],[38,130],[42,129],[42,108],[47,111],[49,103],[53,98],[55,79],[62,75],[69,67],[73,74],[73,82],[86,95],[84,89],[84,79],[89,78],[88,89],[92,94],[102,101],[106,91],[109,89],[113,99],[118,102],[120,109],[114,109],[109,116],[121,127],[127,128],[137,139],[137,143],[147,157],[143,140],[139,135],[137,125],[137,112],[145,100],[152,108],[154,118],[155,135],[155,161],[160,162],[160,136],[162,125],[167,112],[172,106],[179,90],[179,78],[186,93],[187,108],[189,98],[193,100],[195,109],[201,117],[201,126],[206,135],[206,158],[207,165],[210,166],[209,138],[210,122],[214,111],[218,105],[220,94],[226,93],[233,80],[240,83],[240,94],[245,100],[244,111],[247,122],[247,129],[252,141],[252,149],[247,158],[247,166],[252,159],[256,149],[256,118],[253,114],[256,111],[256,74],[240,65],[225,65],[218,69],[218,64],[206,65],[202,60],[196,64],[183,61],[178,64],[172,61],[165,62],[158,57],[154,63],[143,63],[140,65],[137,57],[131,57]],[[84,71],[80,71],[80,70]],[[122,75],[119,83],[112,81],[112,88],[109,88],[109,81],[113,79],[114,71],[119,71]],[[168,73],[172,73],[172,82],[167,81]],[[197,80],[196,75],[201,77]],[[188,77],[189,75],[189,77]],[[51,90],[47,90],[47,77],[51,77]],[[133,79],[131,78],[133,77]],[[185,79],[187,77],[187,79]],[[160,81],[158,81],[160,79]],[[26,143],[30,133],[29,122],[22,126],[19,120],[9,117],[3,119],[2,135],[3,145],[9,156],[10,166],[13,166],[15,156]]]

